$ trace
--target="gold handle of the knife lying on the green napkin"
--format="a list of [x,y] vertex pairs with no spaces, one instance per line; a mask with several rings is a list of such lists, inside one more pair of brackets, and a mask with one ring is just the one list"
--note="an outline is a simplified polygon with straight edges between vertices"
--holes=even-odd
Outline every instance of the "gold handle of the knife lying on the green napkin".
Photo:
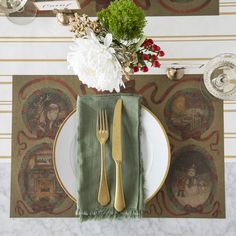
[[125,209],[125,198],[122,184],[122,168],[120,162],[116,162],[116,192],[114,207],[118,212],[121,212]]

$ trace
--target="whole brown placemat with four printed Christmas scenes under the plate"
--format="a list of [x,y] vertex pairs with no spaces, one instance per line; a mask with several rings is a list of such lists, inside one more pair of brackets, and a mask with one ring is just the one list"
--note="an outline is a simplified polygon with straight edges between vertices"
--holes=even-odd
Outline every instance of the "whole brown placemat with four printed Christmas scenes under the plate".
[[[179,82],[139,75],[122,90],[143,96],[171,143],[169,174],[145,217],[225,217],[223,102],[203,95],[202,84],[201,75]],[[53,170],[52,145],[76,95],[94,93],[74,76],[14,76],[12,217],[74,216]]]

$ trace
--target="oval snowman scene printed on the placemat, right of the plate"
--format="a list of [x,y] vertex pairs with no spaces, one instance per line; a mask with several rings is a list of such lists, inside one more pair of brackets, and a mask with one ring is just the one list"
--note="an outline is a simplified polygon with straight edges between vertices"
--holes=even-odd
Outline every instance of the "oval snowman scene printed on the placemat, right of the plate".
[[212,157],[199,146],[186,146],[173,154],[168,195],[179,210],[200,211],[212,202],[217,174]]

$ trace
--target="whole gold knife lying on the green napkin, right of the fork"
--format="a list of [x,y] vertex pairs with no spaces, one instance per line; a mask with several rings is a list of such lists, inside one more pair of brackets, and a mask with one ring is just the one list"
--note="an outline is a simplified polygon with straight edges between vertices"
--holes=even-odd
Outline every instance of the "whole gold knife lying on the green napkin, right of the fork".
[[112,157],[116,163],[116,192],[114,207],[121,212],[125,209],[122,183],[122,135],[121,135],[122,99],[116,102],[112,129]]

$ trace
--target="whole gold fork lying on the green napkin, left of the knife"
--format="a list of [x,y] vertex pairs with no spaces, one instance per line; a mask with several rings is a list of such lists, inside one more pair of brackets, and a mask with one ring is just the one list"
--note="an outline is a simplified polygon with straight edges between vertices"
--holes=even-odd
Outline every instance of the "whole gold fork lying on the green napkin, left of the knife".
[[105,143],[109,137],[109,127],[106,110],[100,110],[97,113],[97,139],[101,146],[101,174],[98,191],[98,202],[106,206],[110,202],[110,194],[107,185],[106,165],[105,165]]

